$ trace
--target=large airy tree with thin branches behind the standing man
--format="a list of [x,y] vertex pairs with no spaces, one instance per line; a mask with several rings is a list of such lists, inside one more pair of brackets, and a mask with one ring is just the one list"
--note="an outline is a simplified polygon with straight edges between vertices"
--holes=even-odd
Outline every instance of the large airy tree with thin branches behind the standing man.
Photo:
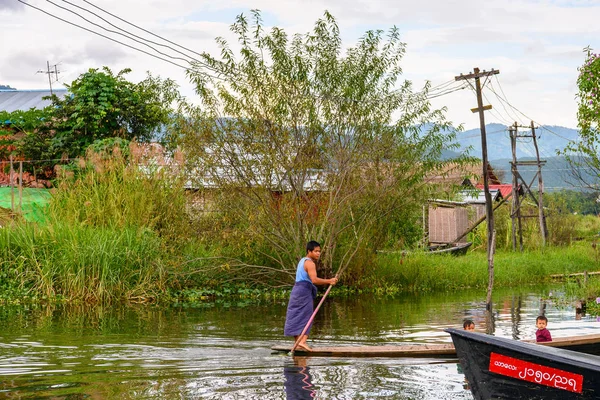
[[424,178],[455,130],[428,103],[429,86],[400,82],[398,29],[368,31],[346,50],[329,13],[292,37],[265,31],[258,11],[231,29],[239,54],[218,38],[221,56],[189,72],[201,106],[181,126],[217,211],[211,243],[289,283],[307,240],[321,241],[326,268],[353,265],[355,277],[377,248],[418,240]]

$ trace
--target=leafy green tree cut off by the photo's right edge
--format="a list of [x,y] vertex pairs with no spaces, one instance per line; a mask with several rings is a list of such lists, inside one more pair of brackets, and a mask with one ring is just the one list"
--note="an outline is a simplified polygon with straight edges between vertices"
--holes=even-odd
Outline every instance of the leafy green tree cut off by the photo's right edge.
[[577,77],[579,140],[569,143],[560,153],[571,164],[572,175],[577,181],[583,187],[597,191],[600,179],[600,54],[593,53],[590,48],[586,48],[586,53]]

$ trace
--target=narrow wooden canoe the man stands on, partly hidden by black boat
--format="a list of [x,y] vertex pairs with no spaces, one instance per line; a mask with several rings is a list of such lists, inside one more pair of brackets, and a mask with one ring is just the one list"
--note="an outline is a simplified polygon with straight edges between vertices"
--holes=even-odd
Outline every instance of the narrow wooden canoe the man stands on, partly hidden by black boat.
[[[534,341],[523,340],[523,342],[533,343]],[[600,334],[555,338],[552,342],[538,343],[538,345],[600,355]],[[292,344],[273,346],[271,350],[289,353],[292,350]],[[452,343],[399,346],[313,346],[310,352],[296,349],[294,353],[313,357],[456,357],[456,350]]]

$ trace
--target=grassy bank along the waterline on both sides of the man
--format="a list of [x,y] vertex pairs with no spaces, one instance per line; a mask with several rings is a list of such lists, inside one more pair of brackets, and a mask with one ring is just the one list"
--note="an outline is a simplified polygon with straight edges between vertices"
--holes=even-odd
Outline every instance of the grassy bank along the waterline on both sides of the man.
[[[197,211],[173,171],[131,167],[139,163],[91,155],[61,171],[42,220],[17,218],[0,228],[0,302],[287,298],[293,278],[269,268],[269,257],[276,254],[237,248],[232,231],[223,231],[219,240],[203,237]],[[577,237],[586,241],[523,253],[499,249],[495,286],[538,284],[551,274],[599,270],[593,246],[598,219],[569,218],[563,225],[579,224],[583,231]],[[371,255],[356,258],[354,273],[343,275],[332,295],[487,287],[483,250],[460,257]],[[283,284],[273,284],[276,274]],[[590,286],[586,295],[595,296],[597,289]]]

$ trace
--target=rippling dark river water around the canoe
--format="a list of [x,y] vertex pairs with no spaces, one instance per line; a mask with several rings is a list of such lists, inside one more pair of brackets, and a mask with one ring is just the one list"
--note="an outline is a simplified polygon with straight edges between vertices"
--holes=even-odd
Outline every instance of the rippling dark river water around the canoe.
[[[553,289],[559,294],[560,289]],[[447,327],[535,337],[543,311],[554,337],[595,333],[548,288],[328,298],[309,343],[445,343]],[[472,399],[457,361],[292,358],[273,353],[286,301],[198,307],[0,306],[0,398],[7,399]]]

